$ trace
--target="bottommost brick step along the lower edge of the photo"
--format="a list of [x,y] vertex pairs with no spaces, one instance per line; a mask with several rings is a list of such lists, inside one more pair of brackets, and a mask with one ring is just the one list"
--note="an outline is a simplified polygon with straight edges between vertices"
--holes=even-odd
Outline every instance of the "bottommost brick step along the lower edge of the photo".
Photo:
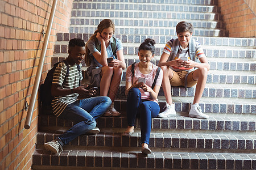
[[52,155],[36,149],[32,169],[255,169],[255,154],[204,152],[141,152],[65,150]]

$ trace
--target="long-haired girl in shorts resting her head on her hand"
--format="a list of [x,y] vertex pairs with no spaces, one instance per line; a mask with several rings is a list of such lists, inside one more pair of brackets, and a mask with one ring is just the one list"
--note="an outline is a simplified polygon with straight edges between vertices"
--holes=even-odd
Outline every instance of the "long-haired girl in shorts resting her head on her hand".
[[[86,74],[93,86],[100,87],[100,96],[109,96],[112,105],[103,116],[120,116],[114,108],[114,100],[122,78],[122,71],[126,68],[121,41],[113,37],[114,23],[110,19],[100,22],[86,43],[85,63],[88,67]],[[98,49],[100,47],[100,49]],[[113,49],[115,48],[115,50]],[[113,57],[108,62],[107,58]]]

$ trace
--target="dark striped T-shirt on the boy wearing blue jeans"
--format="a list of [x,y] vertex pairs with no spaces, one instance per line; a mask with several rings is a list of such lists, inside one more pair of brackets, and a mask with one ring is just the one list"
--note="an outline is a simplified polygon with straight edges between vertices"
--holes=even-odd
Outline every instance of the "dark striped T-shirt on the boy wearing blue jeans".
[[[69,65],[69,74],[65,79],[66,73],[67,73],[67,66],[65,65],[65,63],[63,62],[59,63],[59,65],[56,67],[54,71],[52,84],[58,84],[62,89],[72,89],[72,88],[79,87],[79,81],[82,80],[82,73],[81,71],[79,73],[79,71],[77,70],[76,64]],[[56,117],[59,117],[60,114],[64,111],[64,109],[67,107],[67,105],[76,101],[78,96],[79,94],[71,94],[67,96],[56,96],[52,100],[53,114]]]

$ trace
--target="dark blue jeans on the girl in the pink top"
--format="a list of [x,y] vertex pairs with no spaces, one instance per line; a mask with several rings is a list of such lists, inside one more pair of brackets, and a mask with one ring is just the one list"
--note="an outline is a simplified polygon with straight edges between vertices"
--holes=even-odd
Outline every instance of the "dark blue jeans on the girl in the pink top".
[[136,115],[141,116],[141,142],[149,144],[151,132],[151,119],[158,116],[160,107],[150,100],[141,99],[141,91],[138,88],[131,88],[127,96],[127,122],[134,126]]

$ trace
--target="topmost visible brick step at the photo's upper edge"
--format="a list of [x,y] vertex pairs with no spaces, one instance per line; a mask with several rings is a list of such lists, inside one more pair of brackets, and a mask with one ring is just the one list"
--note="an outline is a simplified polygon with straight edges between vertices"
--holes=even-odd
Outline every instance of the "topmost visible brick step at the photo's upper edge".
[[[124,12],[133,12],[135,11],[191,11],[191,12],[220,12],[220,7],[216,5],[205,5],[205,4],[190,4],[186,6],[185,3],[158,3],[158,2],[88,2],[88,1],[79,1],[73,2],[73,11],[76,10],[114,10],[114,11],[124,11]],[[188,4],[188,2],[187,2]],[[127,10],[127,11],[126,11]],[[130,14],[131,15],[131,14]],[[136,18],[136,17],[134,17]]]

